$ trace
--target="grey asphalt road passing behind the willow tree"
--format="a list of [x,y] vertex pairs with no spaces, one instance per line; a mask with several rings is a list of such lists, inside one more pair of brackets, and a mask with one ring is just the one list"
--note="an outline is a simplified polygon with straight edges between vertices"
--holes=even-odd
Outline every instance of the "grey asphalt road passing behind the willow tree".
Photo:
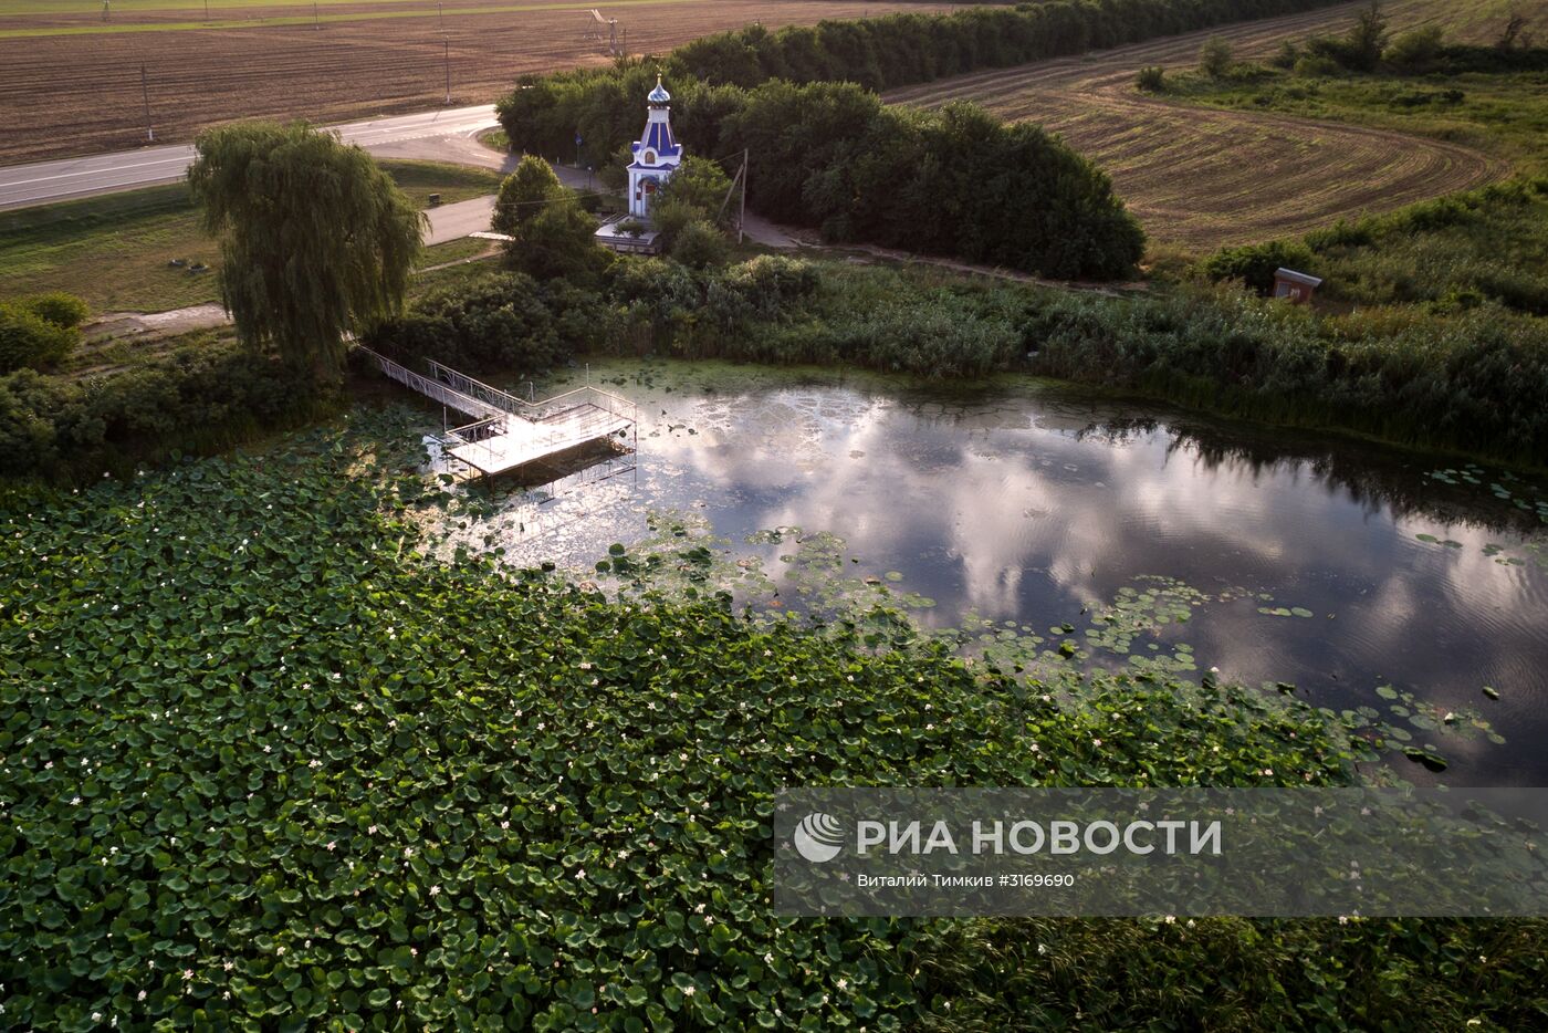
[[[345,142],[359,144],[373,153],[389,152],[384,156],[410,156],[407,152],[423,149],[429,153],[415,156],[433,158],[435,152],[443,149],[467,153],[471,147],[481,147],[472,142],[472,136],[494,125],[494,107],[485,104],[368,122],[348,122],[333,129],[339,130]],[[444,142],[426,146],[430,141]],[[492,156],[498,163],[498,155]],[[192,161],[192,146],[173,144],[90,158],[9,166],[0,169],[0,209],[172,183],[183,178]]]

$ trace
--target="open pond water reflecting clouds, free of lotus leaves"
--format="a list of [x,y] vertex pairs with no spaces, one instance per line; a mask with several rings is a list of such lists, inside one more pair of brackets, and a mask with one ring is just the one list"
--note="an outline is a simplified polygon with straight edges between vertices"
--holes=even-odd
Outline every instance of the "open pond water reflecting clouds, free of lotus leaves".
[[1057,632],[1173,585],[1186,623],[1136,654],[1396,714],[1444,753],[1452,784],[1548,784],[1539,483],[1022,378],[950,389],[655,361],[542,389],[582,378],[639,404],[636,468],[502,491],[467,541],[585,573],[611,544],[687,520],[779,592],[794,542],[816,539],[845,578],[933,627]]

